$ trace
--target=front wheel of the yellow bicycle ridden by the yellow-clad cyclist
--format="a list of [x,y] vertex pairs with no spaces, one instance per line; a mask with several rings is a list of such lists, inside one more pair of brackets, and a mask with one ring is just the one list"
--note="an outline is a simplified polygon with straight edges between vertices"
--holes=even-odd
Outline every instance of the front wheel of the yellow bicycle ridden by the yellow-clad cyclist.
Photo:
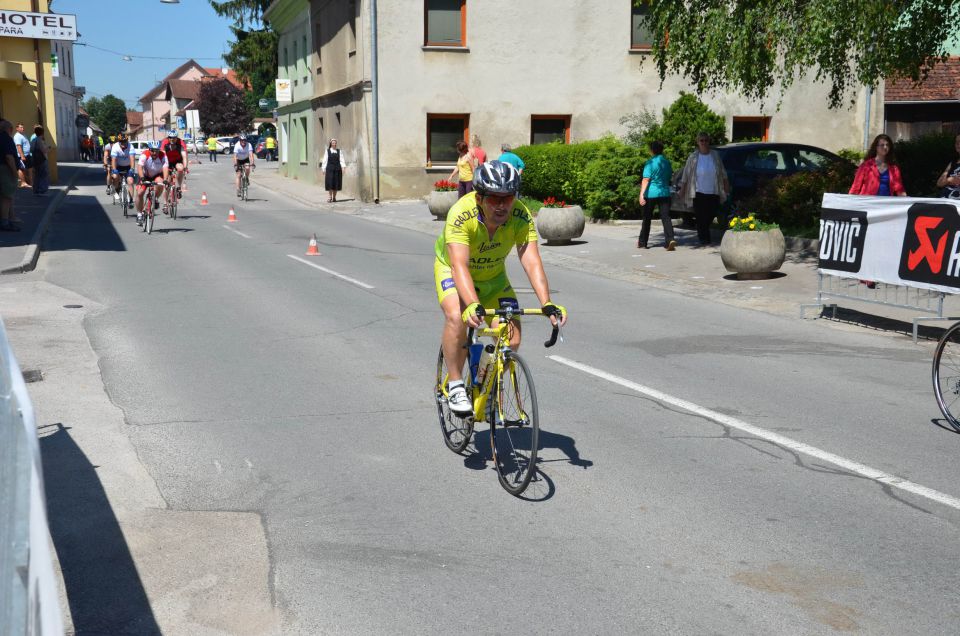
[[539,438],[533,376],[523,358],[508,351],[490,400],[490,448],[500,485],[511,495],[526,490],[537,472]]

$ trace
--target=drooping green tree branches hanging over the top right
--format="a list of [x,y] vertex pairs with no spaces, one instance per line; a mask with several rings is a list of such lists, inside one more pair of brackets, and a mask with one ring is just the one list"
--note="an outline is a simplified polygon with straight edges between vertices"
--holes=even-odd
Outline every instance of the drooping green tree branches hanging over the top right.
[[654,34],[661,81],[763,99],[808,75],[829,103],[885,78],[919,81],[947,55],[957,0],[635,0]]

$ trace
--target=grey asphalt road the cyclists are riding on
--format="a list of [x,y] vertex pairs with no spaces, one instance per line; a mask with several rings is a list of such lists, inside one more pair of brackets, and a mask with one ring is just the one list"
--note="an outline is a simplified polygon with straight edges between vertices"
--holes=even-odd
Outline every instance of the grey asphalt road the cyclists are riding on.
[[[103,434],[148,475],[146,507],[197,515],[127,532],[117,513],[151,616],[93,607],[104,593],[74,576],[78,632],[960,631],[960,437],[935,421],[929,347],[551,268],[571,318],[549,351],[546,323],[525,322],[543,461],[517,499],[485,427],[468,456],[440,437],[433,237],[256,176],[241,204],[230,175],[195,168],[151,236],[81,178],[24,279],[85,299],[103,386],[83,390],[122,412]],[[108,484],[116,467],[96,470]],[[106,500],[135,506],[134,487]],[[170,567],[201,535],[232,575]],[[224,592],[238,580],[263,602]],[[172,588],[216,602],[158,602]]]

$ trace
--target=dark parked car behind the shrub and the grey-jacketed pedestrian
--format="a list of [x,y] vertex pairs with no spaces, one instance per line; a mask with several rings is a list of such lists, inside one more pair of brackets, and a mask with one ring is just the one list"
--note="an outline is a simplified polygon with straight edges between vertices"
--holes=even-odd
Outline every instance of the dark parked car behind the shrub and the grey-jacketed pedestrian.
[[[733,208],[774,177],[804,170],[824,170],[834,163],[846,161],[829,150],[804,144],[745,142],[717,146],[714,150],[720,155],[730,180],[731,191],[727,203]],[[676,186],[680,182],[683,166],[673,166],[673,170],[673,183]],[[674,193],[670,208],[693,212],[679,193]]]

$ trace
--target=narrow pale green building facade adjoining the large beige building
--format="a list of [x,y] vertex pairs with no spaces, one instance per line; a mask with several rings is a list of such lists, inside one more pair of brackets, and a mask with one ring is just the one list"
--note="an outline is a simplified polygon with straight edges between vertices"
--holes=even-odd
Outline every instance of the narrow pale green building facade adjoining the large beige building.
[[277,32],[277,78],[288,83],[290,98],[278,93],[277,134],[280,173],[291,179],[316,181],[323,155],[313,111],[313,4],[308,0],[276,0],[264,13]]

